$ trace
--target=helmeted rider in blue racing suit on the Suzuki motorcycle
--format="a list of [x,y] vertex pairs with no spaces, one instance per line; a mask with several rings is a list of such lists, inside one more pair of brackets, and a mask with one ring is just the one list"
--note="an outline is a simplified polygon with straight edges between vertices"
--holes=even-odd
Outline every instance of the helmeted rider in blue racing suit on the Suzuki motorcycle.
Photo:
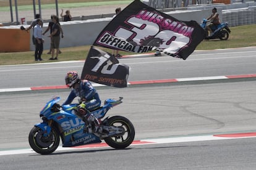
[[[65,81],[66,85],[72,88],[72,90],[62,105],[68,105],[75,97],[80,97],[81,103],[77,107],[76,115],[87,123],[88,126],[85,128],[85,131],[101,132],[100,122],[90,113],[90,111],[95,110],[101,105],[101,100],[96,89],[87,79],[80,79],[77,71],[67,72]],[[95,128],[89,125],[92,123]]]

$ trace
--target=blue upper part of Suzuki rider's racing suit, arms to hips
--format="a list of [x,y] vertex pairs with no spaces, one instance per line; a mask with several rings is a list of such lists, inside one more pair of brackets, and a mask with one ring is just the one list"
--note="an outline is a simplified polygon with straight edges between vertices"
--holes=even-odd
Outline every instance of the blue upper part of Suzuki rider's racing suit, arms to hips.
[[92,111],[100,107],[101,100],[96,89],[92,86],[90,81],[82,79],[80,82],[80,88],[72,89],[67,97],[67,100],[62,105],[70,104],[75,97],[80,97],[82,101],[85,101],[85,108]]

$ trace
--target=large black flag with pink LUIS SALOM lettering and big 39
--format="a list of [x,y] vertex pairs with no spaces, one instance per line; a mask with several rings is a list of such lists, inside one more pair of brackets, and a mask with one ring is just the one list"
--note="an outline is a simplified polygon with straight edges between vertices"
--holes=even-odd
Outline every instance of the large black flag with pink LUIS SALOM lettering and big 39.
[[186,60],[205,35],[197,22],[177,20],[135,0],[108,23],[93,45],[139,53],[157,49]]

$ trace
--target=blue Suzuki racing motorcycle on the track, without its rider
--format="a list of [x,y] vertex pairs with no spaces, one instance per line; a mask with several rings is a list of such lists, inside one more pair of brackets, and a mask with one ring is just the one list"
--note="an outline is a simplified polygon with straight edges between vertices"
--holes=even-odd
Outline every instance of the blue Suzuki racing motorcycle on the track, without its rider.
[[92,129],[85,131],[85,127],[93,124],[86,124],[75,115],[78,103],[61,106],[58,104],[60,97],[54,97],[40,111],[43,122],[35,124],[29,133],[30,147],[42,155],[53,153],[59,146],[60,137],[62,147],[100,143],[101,140],[105,140],[106,144],[113,148],[128,147],[135,136],[134,126],[129,119],[123,116],[103,119],[110,108],[122,103],[122,99],[106,99],[102,107],[91,111],[106,132],[102,133],[93,132]]

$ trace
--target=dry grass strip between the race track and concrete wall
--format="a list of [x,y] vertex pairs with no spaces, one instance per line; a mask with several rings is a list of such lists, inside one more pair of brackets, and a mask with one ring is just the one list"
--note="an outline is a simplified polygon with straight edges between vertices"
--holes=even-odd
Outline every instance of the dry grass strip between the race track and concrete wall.
[[[202,41],[196,50],[212,50],[212,49],[226,49],[226,48],[237,48],[237,47],[249,47],[256,46],[255,33],[256,25],[243,25],[231,27],[231,34],[227,41],[221,40],[209,40]],[[79,46],[61,48],[62,54],[59,55],[59,61],[67,60],[85,60],[87,57],[90,46]],[[112,53],[111,49],[104,49]],[[50,55],[46,54],[48,50],[43,52],[42,58],[45,59],[41,62],[56,62],[56,60],[49,61]],[[12,52],[12,53],[0,53],[0,65],[15,65],[23,63],[38,63],[34,61],[34,52]],[[128,52],[120,52],[122,55],[134,54]],[[41,63],[40,62],[40,63]]]

